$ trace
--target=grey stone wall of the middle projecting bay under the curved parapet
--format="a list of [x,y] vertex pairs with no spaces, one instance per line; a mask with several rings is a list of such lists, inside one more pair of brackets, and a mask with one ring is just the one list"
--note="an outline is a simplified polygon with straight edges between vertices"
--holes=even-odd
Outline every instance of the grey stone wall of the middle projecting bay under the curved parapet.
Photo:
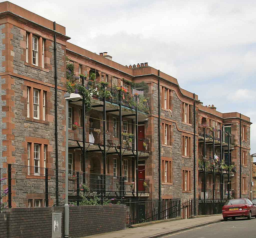
[[[153,83],[152,87],[152,114],[158,115],[158,88],[157,84]],[[183,158],[182,157],[182,132],[180,130],[184,130],[186,132],[194,132],[194,118],[193,118],[193,105],[190,107],[190,116],[191,116],[191,124],[186,125],[182,123],[182,101],[178,98],[175,91],[172,90],[171,93],[171,104],[172,104],[172,114],[168,111],[161,110],[161,116],[168,118],[170,120],[175,120],[176,123],[170,123],[172,125],[172,139],[173,143],[171,147],[165,147],[161,145],[161,157],[170,157],[172,158],[172,175],[173,181],[172,185],[167,185],[162,183],[161,193],[162,196],[172,196],[172,197],[181,197],[183,200],[189,199],[193,197],[194,190],[194,153],[193,153],[193,139],[194,136],[191,135],[191,158]],[[196,118],[198,117],[196,110]],[[177,124],[177,126],[176,126]],[[152,193],[153,198],[158,197],[158,118],[153,118],[153,142],[154,142],[154,151],[152,156],[153,160],[153,179],[152,181],[154,192]],[[197,124],[196,124],[197,125]],[[178,130],[178,128],[179,130]],[[197,126],[196,126],[197,127]],[[161,122],[161,137],[162,137],[162,122]],[[162,144],[162,142],[161,142]],[[196,153],[197,153],[197,143],[196,143]],[[196,160],[196,165],[198,161]],[[183,193],[182,192],[182,167],[191,168],[191,193]]]

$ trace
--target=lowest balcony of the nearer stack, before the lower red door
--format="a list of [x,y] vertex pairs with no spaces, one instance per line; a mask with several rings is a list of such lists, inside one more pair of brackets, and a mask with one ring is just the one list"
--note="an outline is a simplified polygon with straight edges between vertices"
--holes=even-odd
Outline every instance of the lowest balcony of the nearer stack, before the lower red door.
[[[138,179],[138,192],[140,195],[149,194],[149,182],[149,179]],[[143,184],[146,185],[144,186]],[[68,180],[69,195],[74,195],[77,190],[80,190],[81,185],[86,185],[90,193],[105,193],[106,196],[136,196],[135,178],[72,172]]]

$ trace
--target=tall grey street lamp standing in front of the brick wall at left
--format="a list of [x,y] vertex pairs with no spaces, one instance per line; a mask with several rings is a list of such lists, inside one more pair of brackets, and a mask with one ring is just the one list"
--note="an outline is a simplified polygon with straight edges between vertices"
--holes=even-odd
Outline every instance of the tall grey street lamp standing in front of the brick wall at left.
[[68,206],[68,103],[69,101],[75,102],[82,97],[78,93],[65,93],[64,98],[66,100],[66,150],[65,150],[65,206],[64,206],[64,237],[69,236],[69,206]]

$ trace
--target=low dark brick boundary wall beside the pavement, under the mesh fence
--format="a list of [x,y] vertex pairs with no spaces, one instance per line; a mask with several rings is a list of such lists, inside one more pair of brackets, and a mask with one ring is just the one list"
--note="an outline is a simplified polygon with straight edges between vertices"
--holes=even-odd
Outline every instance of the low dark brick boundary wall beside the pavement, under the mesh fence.
[[[52,213],[62,212],[64,237],[64,207],[10,208],[0,214],[0,238],[51,238]],[[125,205],[70,207],[69,237],[99,234],[125,229]]]

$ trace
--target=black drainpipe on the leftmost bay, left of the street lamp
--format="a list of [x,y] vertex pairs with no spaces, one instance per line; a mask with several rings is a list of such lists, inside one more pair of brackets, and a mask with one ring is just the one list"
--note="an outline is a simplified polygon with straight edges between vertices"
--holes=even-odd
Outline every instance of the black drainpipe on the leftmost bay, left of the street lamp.
[[[56,22],[53,23],[53,29],[56,31]],[[55,102],[54,102],[54,111],[55,111],[55,165],[56,165],[56,206],[59,206],[59,157],[58,157],[58,100],[57,100],[57,42],[56,34],[54,34],[54,81],[55,81]],[[67,128],[66,128],[67,129]]]

